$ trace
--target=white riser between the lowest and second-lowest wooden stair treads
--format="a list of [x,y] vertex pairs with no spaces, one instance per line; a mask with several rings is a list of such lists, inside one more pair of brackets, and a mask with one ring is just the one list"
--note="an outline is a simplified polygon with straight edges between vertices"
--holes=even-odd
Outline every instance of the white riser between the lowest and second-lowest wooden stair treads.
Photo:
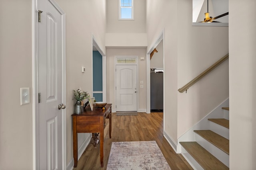
[[196,134],[196,142],[204,147],[208,152],[210,152],[213,156],[215,156],[218,160],[220,160],[223,164],[229,167],[229,155],[220,150],[218,147],[212,145],[212,143],[206,141],[200,135]]

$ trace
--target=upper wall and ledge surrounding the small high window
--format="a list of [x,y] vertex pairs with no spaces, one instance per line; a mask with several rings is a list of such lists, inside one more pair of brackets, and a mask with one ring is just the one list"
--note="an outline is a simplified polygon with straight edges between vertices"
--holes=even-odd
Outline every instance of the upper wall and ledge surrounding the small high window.
[[134,10],[134,20],[118,20],[118,0],[107,0],[106,47],[147,46],[146,0],[135,0]]

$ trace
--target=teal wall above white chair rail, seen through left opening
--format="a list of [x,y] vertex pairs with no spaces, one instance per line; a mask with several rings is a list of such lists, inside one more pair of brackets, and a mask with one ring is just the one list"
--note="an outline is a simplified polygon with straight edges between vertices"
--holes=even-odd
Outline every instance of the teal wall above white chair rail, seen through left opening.
[[93,51],[92,58],[93,91],[102,91],[102,55],[98,51]]

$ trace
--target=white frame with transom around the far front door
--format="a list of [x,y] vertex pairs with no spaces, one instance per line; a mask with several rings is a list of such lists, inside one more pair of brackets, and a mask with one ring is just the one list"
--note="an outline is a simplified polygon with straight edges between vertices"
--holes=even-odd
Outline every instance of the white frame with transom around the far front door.
[[[112,108],[113,112],[116,112],[116,65],[136,65],[137,66],[137,111],[138,111],[138,102],[139,102],[139,88],[138,88],[138,82],[139,82],[139,64],[138,64],[138,56],[134,56],[134,55],[115,55],[115,68],[114,68],[114,95],[115,95],[115,106],[114,109]],[[129,63],[129,64],[120,64],[117,63],[117,58],[136,58],[136,63]]]

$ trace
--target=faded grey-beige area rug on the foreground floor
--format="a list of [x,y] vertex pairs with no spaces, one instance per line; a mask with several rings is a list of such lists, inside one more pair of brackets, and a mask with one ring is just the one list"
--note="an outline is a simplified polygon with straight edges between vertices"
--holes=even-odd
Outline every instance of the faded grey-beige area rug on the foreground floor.
[[156,141],[112,142],[107,170],[170,170]]

